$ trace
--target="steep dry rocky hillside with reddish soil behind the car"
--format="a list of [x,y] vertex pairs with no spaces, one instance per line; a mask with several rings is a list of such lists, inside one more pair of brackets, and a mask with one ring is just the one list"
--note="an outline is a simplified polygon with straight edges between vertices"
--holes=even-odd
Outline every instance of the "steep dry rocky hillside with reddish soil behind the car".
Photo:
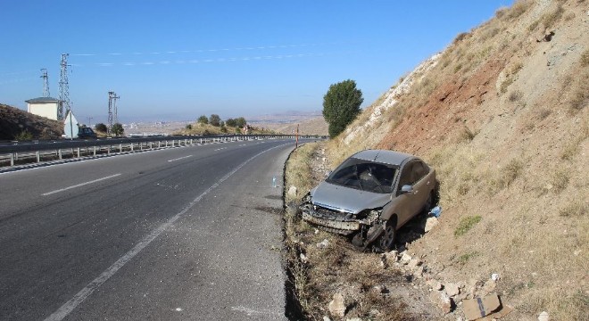
[[437,171],[439,224],[407,247],[462,292],[497,274],[510,319],[589,311],[589,1],[519,0],[400,79],[328,162],[385,148]]

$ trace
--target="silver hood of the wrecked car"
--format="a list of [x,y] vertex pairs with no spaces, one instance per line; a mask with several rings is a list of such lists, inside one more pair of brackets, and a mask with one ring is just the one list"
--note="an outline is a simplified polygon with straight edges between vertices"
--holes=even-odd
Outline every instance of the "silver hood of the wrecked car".
[[362,210],[383,207],[391,200],[391,194],[371,193],[350,187],[321,182],[311,191],[311,201],[314,205],[331,210],[346,211],[358,214]]

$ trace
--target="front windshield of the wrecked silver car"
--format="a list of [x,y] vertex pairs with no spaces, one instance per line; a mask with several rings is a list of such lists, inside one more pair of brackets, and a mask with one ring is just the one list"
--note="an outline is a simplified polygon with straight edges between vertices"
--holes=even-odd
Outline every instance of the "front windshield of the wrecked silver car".
[[395,170],[393,165],[349,158],[326,181],[372,193],[392,193]]

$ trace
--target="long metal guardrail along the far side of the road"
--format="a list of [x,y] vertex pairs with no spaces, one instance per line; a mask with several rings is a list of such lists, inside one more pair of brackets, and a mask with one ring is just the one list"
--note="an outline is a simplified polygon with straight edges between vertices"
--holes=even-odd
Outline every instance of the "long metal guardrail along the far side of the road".
[[[294,135],[211,135],[211,136],[147,136],[125,138],[99,138],[88,140],[55,140],[0,145],[0,163],[14,166],[16,161],[45,161],[43,159],[62,160],[63,157],[79,158],[110,154],[111,152],[136,152],[187,146],[193,144],[223,143],[253,139],[293,138]],[[299,136],[301,138],[319,138],[320,136]],[[31,160],[32,159],[32,160]],[[10,162],[9,162],[10,161]],[[1,166],[1,165],[0,165]]]

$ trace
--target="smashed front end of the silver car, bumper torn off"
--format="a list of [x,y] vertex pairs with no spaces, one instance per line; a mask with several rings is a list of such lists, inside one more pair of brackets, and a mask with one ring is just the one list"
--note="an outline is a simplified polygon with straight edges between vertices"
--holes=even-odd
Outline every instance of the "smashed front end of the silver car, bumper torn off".
[[361,210],[359,213],[353,213],[325,204],[313,203],[310,195],[303,198],[300,209],[303,212],[303,220],[313,226],[339,235],[355,235],[354,238],[361,237],[364,240],[368,235],[373,234],[369,233],[370,229],[373,232],[379,230],[374,227],[380,226],[382,213],[382,209]]

